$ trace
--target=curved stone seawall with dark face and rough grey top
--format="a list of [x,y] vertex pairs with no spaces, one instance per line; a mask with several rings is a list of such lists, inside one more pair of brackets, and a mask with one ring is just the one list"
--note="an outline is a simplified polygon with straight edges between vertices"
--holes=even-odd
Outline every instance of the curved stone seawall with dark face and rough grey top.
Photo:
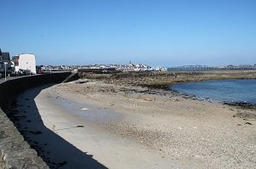
[[49,168],[26,143],[5,110],[22,92],[48,83],[60,83],[71,73],[24,76],[0,83],[0,168]]

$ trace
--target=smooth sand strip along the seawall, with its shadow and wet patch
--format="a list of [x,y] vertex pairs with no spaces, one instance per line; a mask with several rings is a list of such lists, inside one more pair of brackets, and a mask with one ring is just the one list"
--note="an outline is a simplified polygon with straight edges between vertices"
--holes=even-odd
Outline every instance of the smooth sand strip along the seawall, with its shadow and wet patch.
[[197,168],[120,137],[110,126],[122,114],[63,98],[58,87],[26,91],[12,110],[16,127],[50,168]]

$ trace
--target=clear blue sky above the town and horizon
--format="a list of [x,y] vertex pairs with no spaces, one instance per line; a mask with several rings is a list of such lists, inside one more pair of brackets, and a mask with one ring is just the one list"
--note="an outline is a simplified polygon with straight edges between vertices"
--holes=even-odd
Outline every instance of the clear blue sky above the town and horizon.
[[0,48],[38,65],[256,64],[255,0],[0,0]]

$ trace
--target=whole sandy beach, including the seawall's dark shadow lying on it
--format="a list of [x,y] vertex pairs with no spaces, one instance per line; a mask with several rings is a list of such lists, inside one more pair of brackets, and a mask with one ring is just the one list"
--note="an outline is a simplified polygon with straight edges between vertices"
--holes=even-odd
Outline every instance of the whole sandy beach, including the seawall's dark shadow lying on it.
[[36,111],[20,130],[52,167],[256,166],[255,110],[172,91],[83,79],[27,91],[15,111]]

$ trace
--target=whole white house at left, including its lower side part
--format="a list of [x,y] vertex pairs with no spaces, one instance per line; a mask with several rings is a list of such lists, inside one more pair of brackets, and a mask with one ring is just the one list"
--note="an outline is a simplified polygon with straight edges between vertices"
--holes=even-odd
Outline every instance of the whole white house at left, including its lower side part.
[[32,74],[36,74],[36,56],[35,54],[19,54],[13,57],[15,62],[15,71],[31,70]]

